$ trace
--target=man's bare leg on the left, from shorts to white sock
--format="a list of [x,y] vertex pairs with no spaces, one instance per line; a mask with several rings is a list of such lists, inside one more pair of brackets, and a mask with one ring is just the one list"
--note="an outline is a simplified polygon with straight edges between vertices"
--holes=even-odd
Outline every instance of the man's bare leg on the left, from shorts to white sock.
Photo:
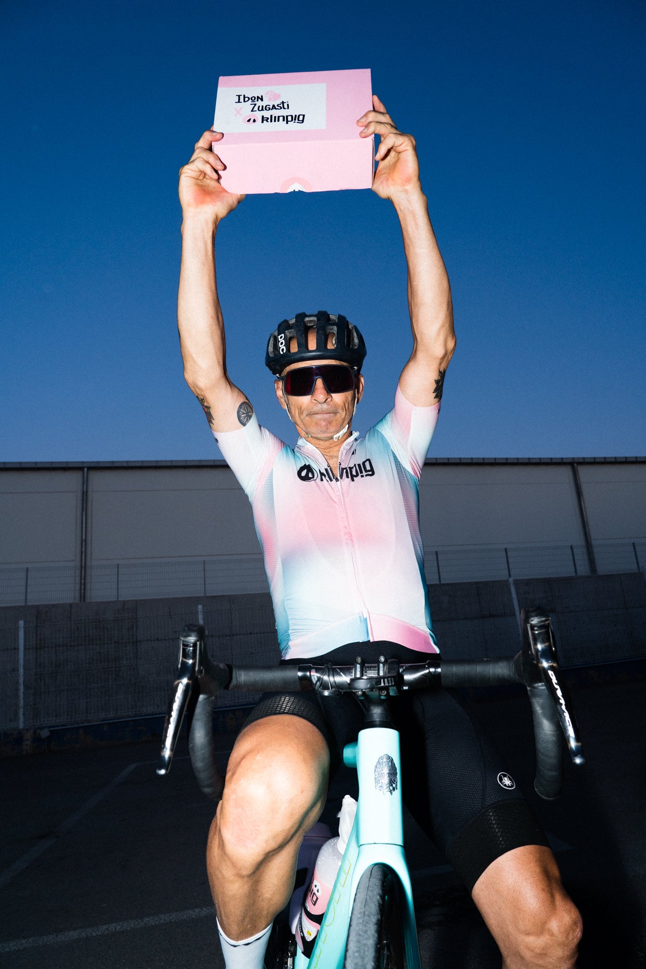
[[260,932],[287,904],[328,771],[323,735],[301,717],[265,717],[237,738],[206,849],[218,921],[230,939]]

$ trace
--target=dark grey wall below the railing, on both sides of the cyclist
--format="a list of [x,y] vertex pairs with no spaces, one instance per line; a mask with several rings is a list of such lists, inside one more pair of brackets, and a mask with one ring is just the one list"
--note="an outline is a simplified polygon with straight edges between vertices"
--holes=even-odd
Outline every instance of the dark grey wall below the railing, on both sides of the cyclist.
[[[646,581],[604,577],[506,578],[430,586],[433,625],[448,659],[512,655],[519,606],[553,620],[564,666],[646,657]],[[91,618],[88,617],[88,613]],[[203,622],[222,662],[279,658],[269,596],[15,607],[0,613],[0,730],[42,729],[163,713],[178,634]],[[222,693],[218,704],[255,695]]]

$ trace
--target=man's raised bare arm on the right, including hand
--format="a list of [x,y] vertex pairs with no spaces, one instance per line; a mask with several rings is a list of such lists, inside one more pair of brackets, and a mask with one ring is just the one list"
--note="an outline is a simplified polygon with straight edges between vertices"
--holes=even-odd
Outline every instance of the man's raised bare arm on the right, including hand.
[[415,139],[397,130],[377,96],[373,106],[356,123],[363,128],[362,138],[381,136],[373,190],[395,206],[408,264],[413,353],[399,386],[412,404],[427,407],[442,399],[446,367],[455,350],[450,286],[419,182]]

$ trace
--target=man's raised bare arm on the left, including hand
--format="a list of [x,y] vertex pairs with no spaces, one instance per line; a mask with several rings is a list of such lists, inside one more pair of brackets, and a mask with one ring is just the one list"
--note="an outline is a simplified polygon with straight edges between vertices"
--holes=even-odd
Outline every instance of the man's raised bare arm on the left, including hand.
[[214,431],[236,430],[253,409],[227,373],[225,325],[215,280],[215,234],[221,219],[244,196],[220,184],[225,165],[211,145],[219,132],[205,131],[188,165],[179,171],[182,204],[182,264],[177,324],[186,383]]

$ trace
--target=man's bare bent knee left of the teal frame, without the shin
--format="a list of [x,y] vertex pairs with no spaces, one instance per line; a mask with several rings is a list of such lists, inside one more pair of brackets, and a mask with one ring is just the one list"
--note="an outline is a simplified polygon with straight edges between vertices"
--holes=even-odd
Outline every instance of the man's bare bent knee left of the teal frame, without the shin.
[[311,747],[298,742],[302,739],[299,725],[291,737],[272,735],[265,729],[252,733],[255,726],[248,728],[250,736],[241,751],[231,755],[210,839],[215,837],[214,849],[224,853],[241,874],[254,872],[261,860],[285,848],[314,824],[327,783],[323,737],[322,750],[312,756]]

